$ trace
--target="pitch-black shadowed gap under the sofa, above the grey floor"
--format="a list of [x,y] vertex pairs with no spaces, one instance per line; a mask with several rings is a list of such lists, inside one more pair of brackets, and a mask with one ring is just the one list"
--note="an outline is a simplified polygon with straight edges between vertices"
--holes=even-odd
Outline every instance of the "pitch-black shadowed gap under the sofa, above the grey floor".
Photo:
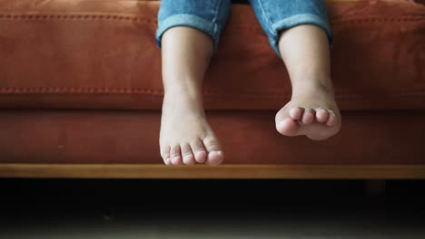
[[425,209],[425,181],[387,180],[385,191],[365,180],[0,179],[3,218],[32,214],[137,214],[221,211]]

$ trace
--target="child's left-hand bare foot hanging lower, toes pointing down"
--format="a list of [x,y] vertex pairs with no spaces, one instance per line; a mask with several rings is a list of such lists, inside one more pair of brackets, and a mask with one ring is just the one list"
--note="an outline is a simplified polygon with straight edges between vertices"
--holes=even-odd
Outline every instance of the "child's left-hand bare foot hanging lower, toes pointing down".
[[202,99],[188,92],[167,91],[163,99],[160,148],[166,165],[218,165],[224,154],[208,125]]

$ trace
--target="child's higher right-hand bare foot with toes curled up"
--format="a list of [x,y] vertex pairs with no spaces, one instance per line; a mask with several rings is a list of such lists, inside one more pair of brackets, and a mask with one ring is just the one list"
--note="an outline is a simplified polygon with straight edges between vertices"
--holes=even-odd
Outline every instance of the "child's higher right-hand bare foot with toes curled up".
[[341,129],[341,113],[331,87],[298,85],[292,99],[276,114],[276,129],[286,136],[328,139]]

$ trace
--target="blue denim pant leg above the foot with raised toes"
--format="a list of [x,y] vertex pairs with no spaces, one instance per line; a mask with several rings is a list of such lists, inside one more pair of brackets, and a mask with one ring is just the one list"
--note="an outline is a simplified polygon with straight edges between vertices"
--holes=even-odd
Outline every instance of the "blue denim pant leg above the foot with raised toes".
[[282,30],[300,24],[314,24],[333,42],[331,26],[324,0],[250,0],[262,29],[267,34],[272,48],[279,56],[279,36]]

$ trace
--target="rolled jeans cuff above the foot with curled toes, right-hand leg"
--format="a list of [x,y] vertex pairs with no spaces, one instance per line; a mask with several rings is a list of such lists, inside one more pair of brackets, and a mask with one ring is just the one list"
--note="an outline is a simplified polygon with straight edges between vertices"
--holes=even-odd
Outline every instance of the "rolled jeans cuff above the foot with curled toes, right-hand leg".
[[279,57],[282,58],[281,52],[279,51],[279,31],[286,30],[301,24],[313,24],[320,27],[323,31],[325,31],[328,36],[329,46],[331,48],[333,43],[333,35],[331,31],[331,26],[326,19],[318,16],[316,14],[296,14],[291,17],[285,18],[282,21],[279,21],[275,24],[272,24],[272,29],[274,33],[272,33],[272,37],[269,38],[270,43],[276,53],[278,53]]

